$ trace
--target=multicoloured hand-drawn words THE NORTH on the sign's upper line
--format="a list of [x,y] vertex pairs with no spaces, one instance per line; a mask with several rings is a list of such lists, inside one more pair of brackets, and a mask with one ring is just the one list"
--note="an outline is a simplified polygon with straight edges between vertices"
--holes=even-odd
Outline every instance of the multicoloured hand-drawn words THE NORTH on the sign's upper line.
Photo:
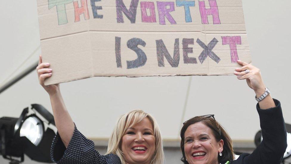
[[[96,6],[95,2],[101,0],[90,0],[93,17],[94,19],[103,19],[103,15],[97,13],[97,10],[102,10],[102,6]],[[205,2],[199,1],[199,10],[201,15],[202,24],[208,23],[208,15],[213,16],[213,24],[221,24],[219,19],[218,7],[216,0],[208,0],[210,8],[206,9]],[[117,15],[117,23],[124,23],[123,14],[130,20],[131,23],[135,23],[136,13],[137,13],[137,5],[139,0],[131,0],[129,9],[126,8],[123,0],[116,0],[116,15]],[[90,19],[89,10],[87,5],[87,0],[81,0],[81,7],[79,7],[78,1],[73,0],[48,0],[49,9],[56,6],[58,13],[58,24],[66,24],[68,23],[67,15],[66,15],[66,4],[73,3],[75,10],[75,22],[80,21],[80,15],[83,14],[85,20]],[[185,10],[185,22],[192,22],[190,7],[195,6],[195,1],[185,1],[185,0],[176,0],[177,7],[183,7]],[[159,23],[165,25],[165,18],[171,24],[177,24],[174,20],[173,16],[171,16],[171,12],[175,11],[174,2],[160,2],[157,1],[157,9],[159,14]],[[141,1],[140,2],[140,10],[141,10],[141,19],[142,22],[145,23],[155,23],[156,13],[155,13],[155,5],[154,2]],[[147,10],[149,13],[147,13]]]

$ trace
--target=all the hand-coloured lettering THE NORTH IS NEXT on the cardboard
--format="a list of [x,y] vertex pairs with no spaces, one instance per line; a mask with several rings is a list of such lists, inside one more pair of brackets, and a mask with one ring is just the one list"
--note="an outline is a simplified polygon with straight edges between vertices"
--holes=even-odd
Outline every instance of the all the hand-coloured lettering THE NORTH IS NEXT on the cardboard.
[[[95,2],[101,0],[90,0],[93,17],[94,19],[103,19],[103,15],[98,14],[98,10],[102,10],[102,6],[97,6]],[[201,23],[202,24],[209,24],[208,22],[208,15],[211,15],[213,18],[213,24],[221,24],[219,19],[219,9],[216,3],[216,0],[208,0],[210,8],[205,7],[205,1],[198,1],[199,2],[199,11],[201,16]],[[49,9],[56,6],[57,14],[58,14],[58,24],[66,24],[68,23],[67,15],[66,15],[66,4],[72,3],[74,5],[75,11],[75,22],[80,21],[80,15],[83,14],[84,19],[90,19],[89,10],[88,10],[88,2],[87,0],[81,0],[81,7],[79,6],[78,1],[73,0],[48,0],[49,2]],[[139,0],[131,0],[129,9],[126,8],[123,0],[116,0],[116,20],[117,23],[124,23],[123,14],[130,20],[131,23],[136,22],[136,15],[137,15],[137,6]],[[155,13],[155,7],[157,7],[158,16]],[[176,7],[184,7],[185,11],[185,22],[189,23],[192,22],[190,7],[195,7],[195,1],[176,1]],[[174,2],[160,2],[157,1],[156,4],[150,1],[141,1],[140,2],[140,11],[141,11],[141,20],[144,23],[156,23],[157,19],[159,19],[160,25],[165,25],[166,21],[165,18],[171,24],[177,24],[173,16],[171,16],[171,12],[175,12],[175,4]],[[222,45],[229,45],[230,47],[230,58],[231,62],[236,62],[238,58],[237,48],[236,45],[242,44],[241,36],[222,36]],[[121,38],[116,36],[115,37],[115,56],[116,56],[116,63],[118,68],[122,68],[121,65],[121,48],[120,48]],[[219,63],[220,58],[216,55],[212,49],[218,44],[218,40],[213,38],[209,43],[203,43],[199,38],[196,39],[196,43],[200,45],[204,50],[200,53],[198,59],[202,64],[205,59],[209,56],[213,59],[216,63]],[[143,47],[146,46],[146,42],[140,38],[132,38],[129,39],[127,42],[127,47],[133,50],[137,54],[137,59],[132,61],[127,61],[127,68],[138,68],[145,65],[147,61],[147,56],[142,49],[137,47],[138,45],[142,45]],[[183,60],[185,64],[197,64],[197,60],[194,57],[188,57],[188,53],[193,53],[193,48],[188,47],[188,45],[194,45],[194,39],[182,39],[182,47],[183,47]],[[179,38],[175,39],[174,44],[174,55],[171,57],[170,53],[168,52],[164,42],[162,39],[156,40],[156,47],[157,47],[157,63],[159,67],[164,67],[164,57],[167,59],[169,64],[172,67],[178,67],[179,65]]]

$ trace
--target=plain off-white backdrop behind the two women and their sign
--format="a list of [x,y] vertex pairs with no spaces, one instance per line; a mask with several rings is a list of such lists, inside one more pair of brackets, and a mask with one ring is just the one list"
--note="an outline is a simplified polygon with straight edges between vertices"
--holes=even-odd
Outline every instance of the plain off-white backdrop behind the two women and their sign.
[[[243,1],[253,65],[261,69],[273,98],[281,101],[289,123],[290,5],[289,0]],[[38,60],[40,42],[36,1],[1,1],[0,15],[3,84]],[[253,140],[260,129],[259,117],[255,95],[245,81],[235,76],[193,76],[182,118],[190,78],[94,77],[63,83],[61,91],[78,129],[89,138],[108,138],[118,116],[140,108],[154,115],[165,139],[179,139],[181,120],[215,114],[233,140]],[[0,94],[0,117],[18,117],[32,103],[51,111],[48,94],[38,84],[35,71]]]

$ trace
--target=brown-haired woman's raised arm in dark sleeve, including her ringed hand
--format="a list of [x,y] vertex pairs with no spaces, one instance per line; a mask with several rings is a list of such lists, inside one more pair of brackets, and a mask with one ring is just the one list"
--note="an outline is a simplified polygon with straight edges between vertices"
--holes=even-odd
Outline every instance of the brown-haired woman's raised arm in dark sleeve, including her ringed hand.
[[[246,79],[247,85],[255,91],[256,96],[262,96],[265,93],[265,85],[260,70],[245,62],[238,61],[238,63],[242,67],[234,72],[237,78]],[[263,141],[252,154],[242,154],[236,163],[281,163],[287,147],[287,136],[281,104],[278,100],[274,100],[271,95],[268,95],[257,104]]]

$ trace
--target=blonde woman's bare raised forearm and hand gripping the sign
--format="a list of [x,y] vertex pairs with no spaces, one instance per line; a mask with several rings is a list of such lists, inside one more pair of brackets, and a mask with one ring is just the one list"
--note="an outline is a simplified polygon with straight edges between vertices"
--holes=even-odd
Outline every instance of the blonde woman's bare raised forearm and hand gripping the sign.
[[49,63],[43,63],[41,56],[39,56],[38,66],[36,68],[38,74],[38,81],[40,85],[47,91],[52,104],[52,112],[55,119],[55,125],[66,148],[71,141],[74,132],[74,122],[66,109],[63,97],[60,92],[59,84],[44,85],[44,79],[52,76],[52,69],[49,69]]

